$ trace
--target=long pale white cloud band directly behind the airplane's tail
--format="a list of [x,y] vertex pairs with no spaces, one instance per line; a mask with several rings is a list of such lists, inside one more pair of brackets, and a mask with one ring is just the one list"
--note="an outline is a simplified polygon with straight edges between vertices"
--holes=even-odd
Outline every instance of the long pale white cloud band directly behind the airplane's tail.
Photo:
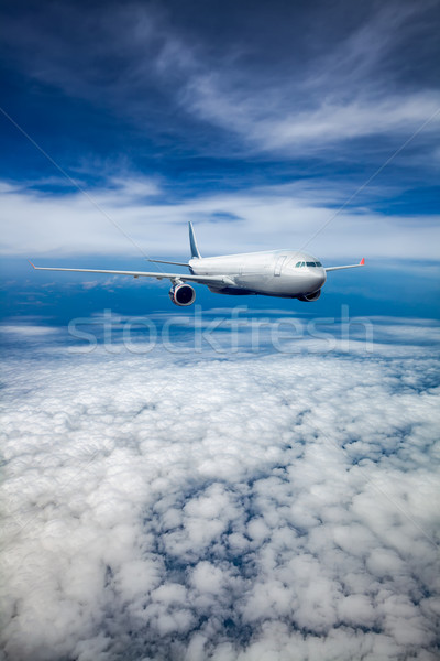
[[[89,193],[95,204],[79,192],[54,197],[9,185],[0,193],[3,254],[44,256],[52,262],[74,254],[123,254],[129,261],[139,258],[142,252],[106,216],[150,257],[187,257],[188,220],[196,224],[202,254],[286,245],[299,249],[334,215],[336,196],[340,204],[349,196],[341,191],[323,191],[321,186],[317,191],[310,182],[301,182],[161,204],[144,198],[148,183],[142,182],[141,188],[138,183],[119,182],[116,195],[110,182],[109,188]],[[151,191],[154,196],[158,193],[156,184],[152,183]],[[212,223],[219,212],[232,214],[238,220],[232,225],[229,220]],[[327,263],[331,259],[363,256],[436,260],[440,245],[440,236],[436,240],[436,219],[422,215],[385,216],[365,207],[345,210],[307,249]]]

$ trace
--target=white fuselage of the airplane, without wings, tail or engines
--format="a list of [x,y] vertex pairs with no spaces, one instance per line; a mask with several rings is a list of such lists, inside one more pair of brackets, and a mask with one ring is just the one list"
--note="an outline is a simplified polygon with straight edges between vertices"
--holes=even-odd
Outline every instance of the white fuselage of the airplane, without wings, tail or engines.
[[209,286],[224,294],[307,296],[319,292],[327,279],[319,260],[297,250],[193,258],[189,268],[195,275],[228,275],[231,285]]

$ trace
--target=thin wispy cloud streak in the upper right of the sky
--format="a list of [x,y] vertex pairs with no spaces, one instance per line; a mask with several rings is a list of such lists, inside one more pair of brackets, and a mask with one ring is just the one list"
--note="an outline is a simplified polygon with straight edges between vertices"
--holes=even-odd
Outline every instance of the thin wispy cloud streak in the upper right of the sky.
[[[239,133],[255,148],[317,153],[355,138],[411,132],[440,107],[435,86],[405,87],[391,66],[420,32],[428,4],[388,4],[330,52],[282,67],[262,80],[240,63],[195,76],[187,104],[204,119]],[[329,17],[330,18],[330,17]],[[438,132],[439,120],[428,133]]]

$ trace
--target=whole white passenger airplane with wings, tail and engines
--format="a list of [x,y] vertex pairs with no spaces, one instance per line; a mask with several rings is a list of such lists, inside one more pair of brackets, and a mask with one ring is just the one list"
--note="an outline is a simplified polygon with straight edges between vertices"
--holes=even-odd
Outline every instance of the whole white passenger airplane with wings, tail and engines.
[[108,273],[133,278],[169,280],[169,297],[175,305],[188,306],[196,300],[196,291],[188,283],[206,284],[216,294],[278,296],[298,299],[306,303],[318,301],[329,271],[355,269],[359,264],[323,267],[314,256],[298,250],[266,250],[201,257],[197,247],[193,224],[189,221],[189,246],[191,259],[187,262],[150,259],[151,262],[187,267],[190,273],[162,273],[156,271],[109,271],[107,269],[66,269],[59,267],[35,267],[37,271],[75,271],[80,273]]

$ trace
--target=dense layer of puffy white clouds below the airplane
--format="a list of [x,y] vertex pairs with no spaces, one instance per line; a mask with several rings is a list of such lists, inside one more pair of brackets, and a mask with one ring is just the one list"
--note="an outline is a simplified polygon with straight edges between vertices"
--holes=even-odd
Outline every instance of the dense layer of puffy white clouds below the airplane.
[[431,350],[35,358],[4,365],[8,661],[433,661]]

